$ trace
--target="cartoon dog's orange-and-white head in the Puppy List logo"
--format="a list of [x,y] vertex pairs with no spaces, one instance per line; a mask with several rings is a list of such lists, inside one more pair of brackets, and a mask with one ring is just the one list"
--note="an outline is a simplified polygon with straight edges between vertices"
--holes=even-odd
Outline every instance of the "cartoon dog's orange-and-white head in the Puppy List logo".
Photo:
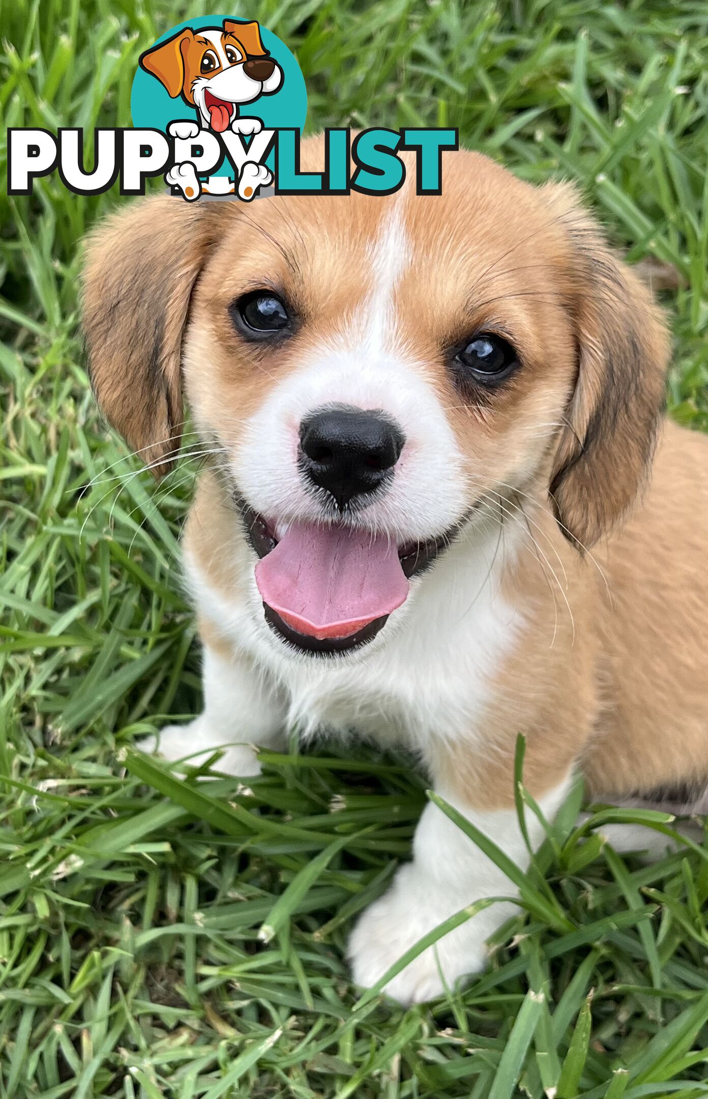
[[146,49],[140,58],[175,99],[195,107],[202,126],[221,133],[237,115],[239,104],[270,96],[283,82],[283,69],[261,41],[256,22],[226,19],[221,27],[186,27]]

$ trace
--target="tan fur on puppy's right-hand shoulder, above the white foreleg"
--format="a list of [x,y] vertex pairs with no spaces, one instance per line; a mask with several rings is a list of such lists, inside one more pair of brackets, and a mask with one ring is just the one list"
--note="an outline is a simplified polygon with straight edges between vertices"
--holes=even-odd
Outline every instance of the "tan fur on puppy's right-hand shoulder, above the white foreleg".
[[540,798],[583,752],[598,706],[598,686],[588,675],[599,651],[595,566],[563,539],[547,511],[529,507],[528,515],[529,552],[505,578],[507,600],[519,607],[524,628],[496,677],[483,719],[484,750],[444,745],[436,764],[446,788],[484,810],[513,804],[519,733],[526,737],[524,785]]

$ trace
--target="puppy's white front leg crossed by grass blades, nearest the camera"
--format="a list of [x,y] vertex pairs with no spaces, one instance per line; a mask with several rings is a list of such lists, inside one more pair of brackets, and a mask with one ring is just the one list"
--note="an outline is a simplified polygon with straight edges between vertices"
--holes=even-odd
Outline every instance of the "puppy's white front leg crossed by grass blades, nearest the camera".
[[[553,818],[568,790],[571,773],[538,798],[546,818]],[[510,777],[510,784],[512,779]],[[526,869],[529,853],[513,808],[475,809],[451,786],[438,792],[518,866]],[[527,813],[535,846],[543,829]],[[349,945],[354,981],[370,987],[419,939],[461,909],[485,897],[512,897],[506,875],[435,804],[429,804],[413,840],[413,859],[402,866],[394,884],[361,917]],[[515,904],[496,902],[440,939],[386,986],[401,1003],[430,1000],[452,988],[460,977],[478,973],[486,964],[485,942],[515,912]]]

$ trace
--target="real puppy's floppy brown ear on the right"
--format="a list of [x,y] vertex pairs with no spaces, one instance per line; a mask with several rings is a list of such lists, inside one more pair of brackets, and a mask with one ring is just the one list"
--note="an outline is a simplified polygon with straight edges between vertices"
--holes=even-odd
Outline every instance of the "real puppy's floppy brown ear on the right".
[[566,536],[589,548],[628,512],[648,478],[670,343],[650,291],[608,247],[575,189],[554,184],[545,191],[569,237],[567,309],[577,343],[551,500]]

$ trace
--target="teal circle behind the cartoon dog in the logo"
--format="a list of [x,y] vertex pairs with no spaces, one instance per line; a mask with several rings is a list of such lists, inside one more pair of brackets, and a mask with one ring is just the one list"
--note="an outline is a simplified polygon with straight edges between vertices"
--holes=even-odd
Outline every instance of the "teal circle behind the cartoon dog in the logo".
[[[165,42],[166,38],[172,38],[173,34],[184,31],[186,26],[191,27],[192,31],[201,31],[204,27],[221,27],[225,19],[232,19],[234,23],[253,22],[250,19],[236,19],[233,15],[202,15],[200,19],[187,19],[184,23],[177,23],[165,34],[161,34],[153,45],[156,46],[161,42]],[[253,103],[247,103],[243,113],[250,119],[261,119],[267,130],[296,129],[302,133],[308,110],[308,97],[300,66],[285,43],[280,42],[273,31],[258,25],[261,26],[263,45],[283,69],[283,84],[273,96],[261,96]],[[131,89],[131,116],[135,129],[162,130],[164,134],[167,133],[169,123],[178,119],[197,121],[197,112],[184,101],[181,96],[172,99],[157,77],[146,73],[140,65]],[[273,167],[272,159],[273,154],[267,160],[269,167]],[[214,175],[228,176],[232,170],[231,165],[224,160]]]

